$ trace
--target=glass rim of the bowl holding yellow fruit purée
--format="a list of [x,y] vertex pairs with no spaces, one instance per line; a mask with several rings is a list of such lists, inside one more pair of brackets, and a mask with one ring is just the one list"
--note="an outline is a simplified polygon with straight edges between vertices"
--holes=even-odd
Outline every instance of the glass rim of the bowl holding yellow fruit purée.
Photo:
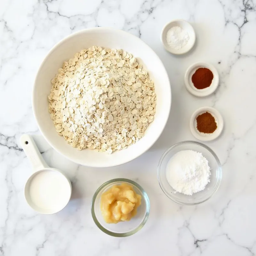
[[[143,196],[143,198],[146,202],[146,214],[145,214],[144,219],[142,220],[142,222],[140,223],[140,225],[137,228],[135,228],[135,229],[133,229],[132,231],[129,231],[129,232],[115,233],[115,232],[109,231],[108,229],[104,228],[100,224],[100,222],[98,221],[98,219],[95,215],[94,204],[95,204],[96,197],[98,196],[98,194],[100,193],[100,191],[102,189],[104,189],[106,186],[108,186],[112,183],[116,183],[116,182],[124,182],[124,183],[131,184],[132,186],[135,186],[136,188],[138,188],[140,190],[140,192],[141,192],[141,194],[142,194],[142,196]],[[150,202],[149,202],[148,194],[137,182],[135,182],[133,180],[123,179],[123,178],[116,178],[116,179],[108,180],[105,183],[103,183],[102,185],[100,185],[100,187],[96,190],[96,192],[94,193],[94,195],[92,197],[92,203],[91,203],[92,219],[93,219],[94,223],[96,224],[96,226],[98,228],[100,228],[101,231],[108,234],[109,236],[126,237],[126,236],[131,236],[131,235],[137,233],[146,224],[146,222],[148,220],[149,212],[150,212]]]

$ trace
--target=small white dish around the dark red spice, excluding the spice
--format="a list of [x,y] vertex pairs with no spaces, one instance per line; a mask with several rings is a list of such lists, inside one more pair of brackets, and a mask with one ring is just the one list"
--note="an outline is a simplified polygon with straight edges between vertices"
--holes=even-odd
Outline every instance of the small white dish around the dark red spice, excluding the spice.
[[[212,74],[213,74],[212,84],[205,89],[197,89],[192,82],[192,76],[196,72],[196,69],[198,68],[208,68],[212,71]],[[211,64],[204,63],[204,62],[196,62],[195,64],[192,64],[190,67],[188,67],[185,73],[184,82],[188,92],[190,92],[191,94],[197,97],[205,97],[212,94],[217,89],[219,85],[219,74],[217,69]]]

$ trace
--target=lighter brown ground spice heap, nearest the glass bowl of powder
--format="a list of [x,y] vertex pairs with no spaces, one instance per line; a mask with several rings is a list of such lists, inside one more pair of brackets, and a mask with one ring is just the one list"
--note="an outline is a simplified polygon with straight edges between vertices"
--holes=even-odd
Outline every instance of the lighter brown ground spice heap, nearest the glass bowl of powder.
[[199,132],[213,133],[217,129],[215,118],[209,112],[196,117],[196,128]]

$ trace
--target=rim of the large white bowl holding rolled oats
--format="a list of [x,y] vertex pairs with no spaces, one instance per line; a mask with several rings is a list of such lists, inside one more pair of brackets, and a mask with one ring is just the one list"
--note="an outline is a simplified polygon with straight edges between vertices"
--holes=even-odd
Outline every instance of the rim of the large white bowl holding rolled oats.
[[[169,100],[168,100],[168,109],[166,109],[166,111],[168,111],[168,113],[166,113],[166,120],[164,122],[164,125],[161,129],[161,131],[159,131],[159,134],[158,136],[155,137],[154,140],[151,141],[151,143],[146,147],[144,148],[138,155],[136,155],[135,157],[128,157],[126,160],[123,160],[123,161],[120,161],[118,162],[117,164],[113,163],[113,164],[108,164],[108,165],[104,165],[104,164],[101,164],[99,165],[100,162],[95,162],[95,163],[84,163],[83,161],[81,161],[80,159],[77,160],[77,159],[73,159],[73,157],[69,156],[68,154],[65,154],[63,153],[62,149],[61,148],[57,148],[53,145],[53,143],[51,142],[51,140],[48,139],[48,136],[47,134],[45,134],[45,132],[42,131],[41,129],[41,126],[39,125],[39,122],[38,122],[38,118],[39,116],[36,114],[36,109],[35,109],[35,90],[36,90],[36,80],[38,79],[38,76],[39,76],[39,71],[41,70],[41,68],[43,67],[43,65],[45,64],[45,62],[48,60],[48,58],[50,57],[50,55],[52,54],[52,52],[55,51],[55,49],[60,45],[62,44],[63,42],[65,42],[66,40],[68,40],[69,38],[73,37],[73,36],[76,36],[76,35],[79,35],[79,34],[83,34],[83,33],[87,33],[87,32],[90,32],[90,31],[105,31],[105,30],[108,30],[108,31],[116,31],[117,33],[123,33],[124,35],[129,35],[131,37],[133,37],[135,40],[137,41],[140,41],[140,43],[146,45],[156,56],[156,58],[160,61],[160,63],[162,63],[162,68],[163,68],[163,72],[165,73],[166,75],[166,78],[169,82],[169,86],[166,87],[167,91],[166,92],[166,95],[170,95],[169,97]],[[150,71],[149,71],[150,72]],[[64,37],[63,39],[61,39],[58,43],[56,43],[51,49],[50,51],[47,53],[47,55],[44,57],[44,60],[42,61],[41,65],[39,66],[38,70],[37,70],[37,73],[36,73],[36,76],[35,76],[35,79],[34,79],[34,84],[33,84],[33,91],[32,91],[32,110],[33,110],[33,114],[34,114],[34,117],[36,119],[36,124],[37,124],[37,127],[39,129],[39,131],[41,132],[41,134],[43,135],[44,139],[49,143],[49,145],[54,149],[56,150],[60,155],[66,157],[67,159],[69,159],[70,161],[74,162],[74,163],[77,163],[77,164],[81,164],[81,165],[84,165],[84,166],[89,166],[89,167],[113,167],[113,166],[118,166],[118,165],[121,165],[121,164],[125,164],[125,163],[128,163],[136,158],[138,158],[139,156],[141,156],[142,154],[144,154],[145,152],[148,151],[149,148],[151,148],[155,143],[156,141],[159,139],[159,137],[161,136],[161,134],[163,133],[164,131],[164,128],[168,122],[168,119],[169,119],[169,116],[170,116],[170,111],[171,111],[171,105],[172,105],[172,91],[171,91],[171,83],[170,83],[170,78],[168,76],[168,73],[167,73],[167,70],[166,68],[164,67],[164,63],[163,61],[159,58],[159,56],[156,54],[156,52],[148,45],[146,44],[143,40],[141,40],[139,37],[137,36],[134,36],[132,35],[131,33],[129,32],[126,32],[124,30],[121,30],[121,29],[116,29],[116,28],[110,28],[110,27],[95,27],[95,28],[85,28],[85,29],[82,29],[82,30],[79,30],[75,33],[72,33],[66,37]],[[56,135],[58,135],[56,133]],[[89,149],[87,149],[89,150]]]

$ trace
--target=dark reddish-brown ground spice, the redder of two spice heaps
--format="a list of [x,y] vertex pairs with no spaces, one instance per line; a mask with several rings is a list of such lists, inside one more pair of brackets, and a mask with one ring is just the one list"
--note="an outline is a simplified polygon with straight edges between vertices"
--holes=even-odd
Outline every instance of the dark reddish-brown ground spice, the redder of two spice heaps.
[[196,89],[205,89],[212,84],[213,74],[208,68],[198,68],[192,75],[192,83]]

